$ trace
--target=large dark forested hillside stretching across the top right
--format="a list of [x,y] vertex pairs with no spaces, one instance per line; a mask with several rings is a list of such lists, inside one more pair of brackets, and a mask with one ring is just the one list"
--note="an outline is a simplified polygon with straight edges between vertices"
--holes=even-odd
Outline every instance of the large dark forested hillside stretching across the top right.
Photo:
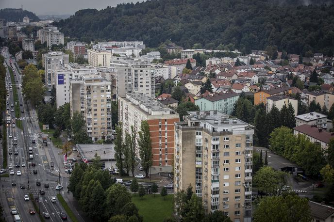
[[[311,0],[308,0],[310,2]],[[85,9],[56,25],[82,41],[165,40],[192,48],[234,44],[243,52],[277,46],[288,53],[334,51],[334,6],[297,0],[150,0],[103,10]],[[294,2],[294,3],[291,3]]]

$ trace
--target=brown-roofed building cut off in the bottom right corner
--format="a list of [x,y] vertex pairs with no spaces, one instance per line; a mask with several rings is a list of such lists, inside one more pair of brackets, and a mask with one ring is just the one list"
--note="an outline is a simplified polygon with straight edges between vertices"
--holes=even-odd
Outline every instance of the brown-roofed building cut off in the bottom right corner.
[[308,201],[311,209],[312,222],[333,222],[334,207]]

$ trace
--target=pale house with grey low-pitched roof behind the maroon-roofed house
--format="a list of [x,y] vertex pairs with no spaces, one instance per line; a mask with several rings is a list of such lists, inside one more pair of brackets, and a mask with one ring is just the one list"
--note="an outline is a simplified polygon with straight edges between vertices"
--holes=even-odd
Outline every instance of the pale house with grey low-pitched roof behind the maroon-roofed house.
[[318,113],[318,112],[309,112],[301,114],[295,117],[296,118],[296,127],[299,127],[303,124],[310,126],[317,126],[318,128],[331,129],[332,120],[327,119],[327,115]]

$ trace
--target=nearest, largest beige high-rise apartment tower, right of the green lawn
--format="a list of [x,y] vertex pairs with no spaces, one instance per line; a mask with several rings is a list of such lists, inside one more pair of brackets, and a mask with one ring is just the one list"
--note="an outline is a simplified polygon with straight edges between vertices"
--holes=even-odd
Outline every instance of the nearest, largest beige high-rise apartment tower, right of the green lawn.
[[219,111],[188,113],[175,123],[175,192],[191,184],[206,213],[250,222],[254,127]]

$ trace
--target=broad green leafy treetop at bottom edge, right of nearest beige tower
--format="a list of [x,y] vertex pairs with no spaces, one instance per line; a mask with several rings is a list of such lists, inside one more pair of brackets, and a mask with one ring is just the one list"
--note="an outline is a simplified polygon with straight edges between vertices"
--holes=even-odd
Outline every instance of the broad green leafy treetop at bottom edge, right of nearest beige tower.
[[308,199],[296,194],[265,197],[261,199],[254,212],[256,222],[309,222],[311,220]]

